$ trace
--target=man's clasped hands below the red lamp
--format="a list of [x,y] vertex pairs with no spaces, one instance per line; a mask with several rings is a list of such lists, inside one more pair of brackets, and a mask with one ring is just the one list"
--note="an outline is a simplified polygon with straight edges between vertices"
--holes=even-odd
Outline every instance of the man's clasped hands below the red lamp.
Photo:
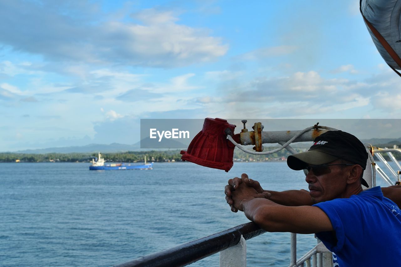
[[224,188],[226,201],[231,207],[232,212],[243,211],[246,201],[253,198],[269,198],[270,193],[265,192],[258,181],[249,179],[248,175],[243,173],[241,178],[235,177],[228,180]]

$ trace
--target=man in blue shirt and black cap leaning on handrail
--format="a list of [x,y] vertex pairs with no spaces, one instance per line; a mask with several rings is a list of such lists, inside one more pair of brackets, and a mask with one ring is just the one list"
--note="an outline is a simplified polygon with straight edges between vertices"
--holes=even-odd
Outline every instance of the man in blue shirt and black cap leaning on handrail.
[[298,205],[297,190],[273,202],[277,192],[262,190],[246,174],[241,176],[243,183],[239,178],[229,180],[226,199],[233,211],[244,211],[266,231],[316,233],[336,254],[340,267],[398,266],[401,212],[379,186],[362,190],[361,184],[367,186],[362,178],[367,157],[365,146],[355,136],[328,131],[307,152],[287,160],[294,170],[308,170],[309,198],[306,192],[296,193],[308,204]]

